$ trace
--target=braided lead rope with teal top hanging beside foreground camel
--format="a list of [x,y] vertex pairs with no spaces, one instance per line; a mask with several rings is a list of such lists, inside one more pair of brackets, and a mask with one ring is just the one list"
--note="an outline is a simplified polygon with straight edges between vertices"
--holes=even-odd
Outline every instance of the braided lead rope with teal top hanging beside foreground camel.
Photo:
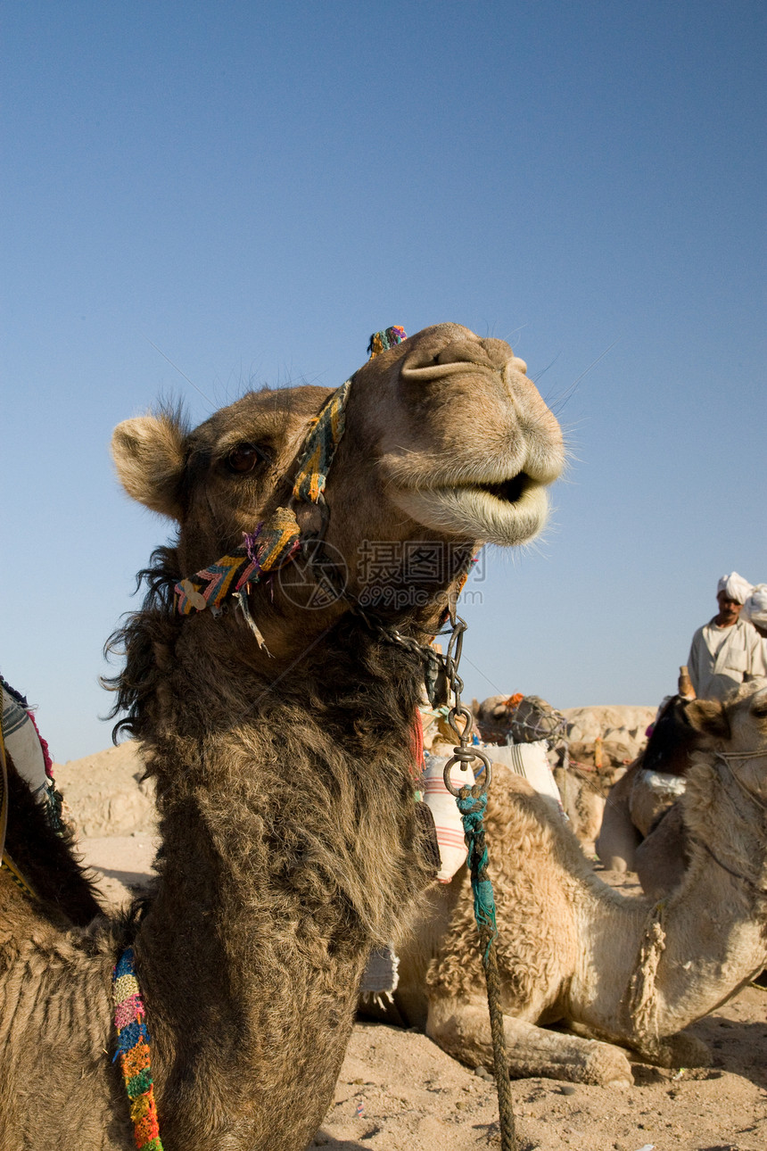
[[514,1131],[514,1105],[512,1084],[508,1078],[508,1061],[504,1037],[504,1013],[500,1009],[500,975],[496,939],[496,900],[492,883],[488,875],[488,846],[485,843],[484,814],[488,806],[488,794],[480,784],[474,787],[463,786],[455,796],[461,813],[466,843],[469,849],[468,864],[471,872],[471,893],[474,895],[474,917],[480,932],[480,951],[488,983],[488,1011],[490,1013],[490,1034],[492,1037],[493,1070],[498,1091],[498,1116],[500,1120],[501,1151],[515,1151],[516,1135]]

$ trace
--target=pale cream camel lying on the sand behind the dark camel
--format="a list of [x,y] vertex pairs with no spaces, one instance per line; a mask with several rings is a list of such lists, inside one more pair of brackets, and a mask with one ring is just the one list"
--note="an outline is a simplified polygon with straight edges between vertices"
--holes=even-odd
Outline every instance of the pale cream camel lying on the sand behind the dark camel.
[[[705,1065],[682,1028],[767,960],[767,691],[685,711],[703,749],[681,800],[690,864],[666,900],[592,870],[551,802],[493,768],[485,826],[511,1074],[629,1085],[628,1053]],[[400,1019],[470,1067],[492,1065],[466,868],[400,946]],[[546,1030],[560,1023],[576,1034]]]

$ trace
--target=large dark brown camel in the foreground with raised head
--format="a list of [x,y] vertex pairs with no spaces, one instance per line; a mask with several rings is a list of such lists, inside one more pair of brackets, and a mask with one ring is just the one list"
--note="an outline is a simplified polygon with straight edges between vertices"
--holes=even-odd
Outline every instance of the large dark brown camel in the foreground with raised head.
[[115,430],[125,491],[177,528],[113,683],[159,876],[64,929],[0,870],[7,1151],[133,1145],[110,1003],[130,948],[164,1151],[300,1151],[331,1102],[367,958],[436,870],[412,750],[429,640],[478,546],[540,529],[563,465],[503,341],[447,323],[384,349],[336,392]]

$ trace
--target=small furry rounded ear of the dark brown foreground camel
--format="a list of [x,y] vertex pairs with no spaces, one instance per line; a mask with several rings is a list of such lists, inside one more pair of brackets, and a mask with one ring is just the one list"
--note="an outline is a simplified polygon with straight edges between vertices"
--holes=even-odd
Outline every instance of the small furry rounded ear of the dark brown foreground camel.
[[184,437],[171,412],[124,420],[112,436],[112,458],[128,495],[171,519],[182,514]]

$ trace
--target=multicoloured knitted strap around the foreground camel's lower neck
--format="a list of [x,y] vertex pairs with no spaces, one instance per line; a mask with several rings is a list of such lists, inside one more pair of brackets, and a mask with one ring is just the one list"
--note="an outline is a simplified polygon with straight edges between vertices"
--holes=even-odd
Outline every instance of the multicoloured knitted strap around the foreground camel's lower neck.
[[162,1151],[152,1084],[149,1032],[144,1022],[144,1004],[136,978],[132,947],[126,947],[115,965],[112,996],[117,1030],[114,1058],[116,1060],[120,1057],[136,1146],[138,1151]]

